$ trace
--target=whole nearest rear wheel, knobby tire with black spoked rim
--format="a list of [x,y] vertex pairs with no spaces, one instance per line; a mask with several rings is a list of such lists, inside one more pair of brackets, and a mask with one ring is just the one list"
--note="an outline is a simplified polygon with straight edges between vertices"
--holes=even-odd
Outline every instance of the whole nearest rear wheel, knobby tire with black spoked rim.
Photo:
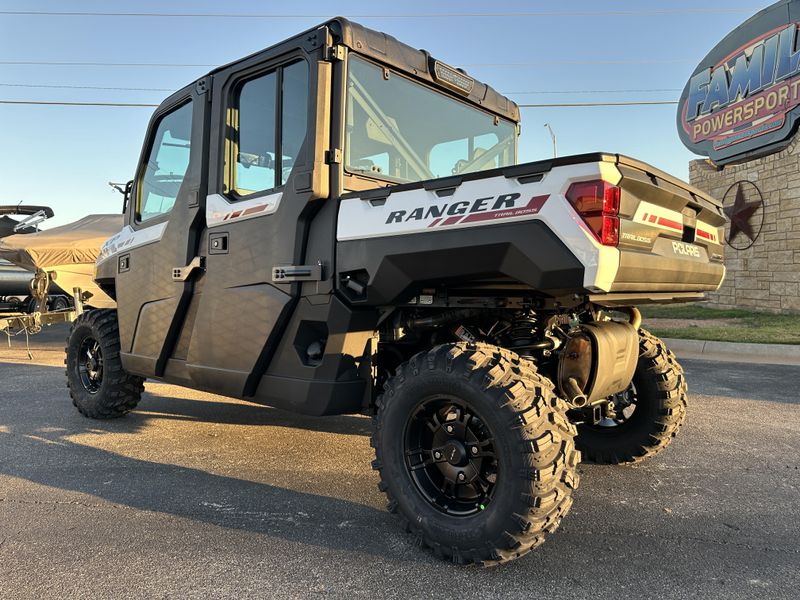
[[[373,467],[389,510],[418,543],[455,563],[488,566],[522,556],[572,506],[580,453],[566,410],[550,381],[507,350],[459,343],[417,354],[377,400]],[[423,450],[427,438],[431,447]],[[459,439],[466,466],[457,461]],[[438,460],[436,448],[443,450]],[[465,473],[466,481],[446,483],[445,472],[456,484]],[[470,483],[475,472],[480,479]],[[436,481],[450,497],[437,497]]]

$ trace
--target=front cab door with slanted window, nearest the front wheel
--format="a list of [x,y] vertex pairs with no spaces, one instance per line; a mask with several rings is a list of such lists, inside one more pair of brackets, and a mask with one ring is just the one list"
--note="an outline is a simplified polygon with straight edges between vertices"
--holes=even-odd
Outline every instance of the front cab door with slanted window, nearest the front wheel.
[[167,99],[153,115],[116,257],[117,313],[125,369],[160,377],[201,267],[205,219],[204,123],[208,80]]

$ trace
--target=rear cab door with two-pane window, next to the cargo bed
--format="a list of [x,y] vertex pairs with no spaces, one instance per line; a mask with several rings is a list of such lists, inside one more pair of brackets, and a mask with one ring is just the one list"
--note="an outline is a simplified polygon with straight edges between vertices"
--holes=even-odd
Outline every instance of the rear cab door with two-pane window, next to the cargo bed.
[[328,177],[330,64],[307,37],[214,76],[206,269],[177,354],[194,387],[252,395],[298,301],[275,272],[304,265]]

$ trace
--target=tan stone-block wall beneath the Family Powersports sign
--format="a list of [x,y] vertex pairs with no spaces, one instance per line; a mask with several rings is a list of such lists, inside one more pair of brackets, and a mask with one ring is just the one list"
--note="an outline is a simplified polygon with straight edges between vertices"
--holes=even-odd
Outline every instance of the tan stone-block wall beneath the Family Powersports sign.
[[[747,250],[725,247],[728,269],[722,287],[709,294],[719,308],[747,307],[800,312],[800,140],[784,151],[717,171],[706,161],[689,163],[695,187],[722,200],[735,182],[749,180],[764,195],[764,226]],[[725,202],[728,206],[732,198]],[[758,214],[754,223],[757,223]],[[727,232],[726,232],[727,233]],[[743,234],[736,238],[746,239]]]

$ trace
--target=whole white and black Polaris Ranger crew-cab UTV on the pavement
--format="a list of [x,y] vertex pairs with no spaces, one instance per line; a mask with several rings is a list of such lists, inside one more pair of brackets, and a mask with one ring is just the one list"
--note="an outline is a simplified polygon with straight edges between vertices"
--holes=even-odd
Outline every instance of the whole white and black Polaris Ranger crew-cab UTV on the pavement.
[[640,461],[684,421],[637,304],[724,276],[720,205],[646,164],[517,164],[511,100],[345,19],[215,69],[150,123],[115,310],[75,322],[78,410],[145,378],[312,415],[374,416],[380,489],[459,563],[511,560],[572,504],[576,467]]

